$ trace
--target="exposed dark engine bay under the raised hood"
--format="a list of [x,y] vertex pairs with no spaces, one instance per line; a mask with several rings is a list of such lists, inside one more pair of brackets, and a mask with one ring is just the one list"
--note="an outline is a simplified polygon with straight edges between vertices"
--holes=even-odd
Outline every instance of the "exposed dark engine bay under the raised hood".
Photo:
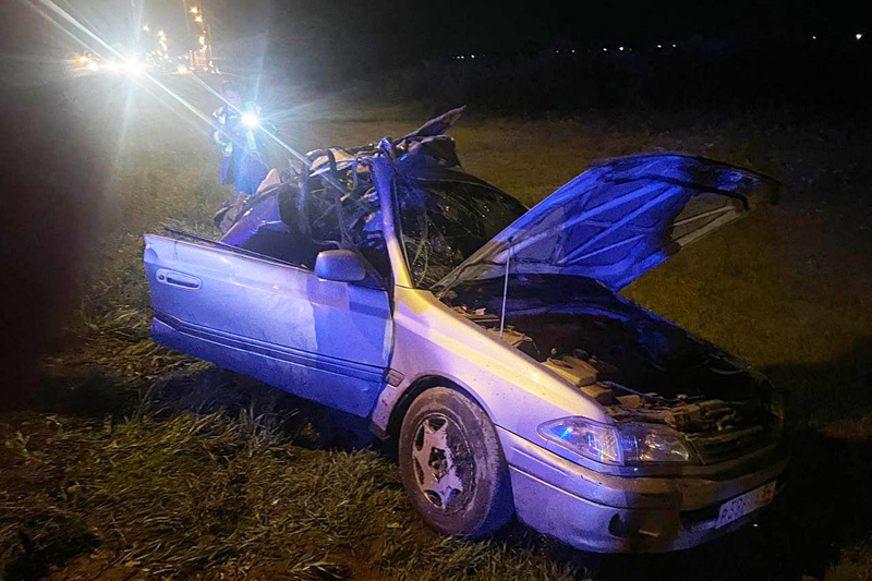
[[501,322],[502,285],[457,287],[443,301],[595,400],[616,423],[670,427],[704,462],[762,446],[779,428],[761,373],[596,281],[510,277]]

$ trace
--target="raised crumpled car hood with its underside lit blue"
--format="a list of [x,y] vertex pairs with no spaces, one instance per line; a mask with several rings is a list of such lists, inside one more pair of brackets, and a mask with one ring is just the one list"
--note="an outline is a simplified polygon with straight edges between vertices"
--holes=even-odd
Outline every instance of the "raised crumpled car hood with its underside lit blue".
[[613,290],[682,246],[744,216],[773,179],[683,154],[594,162],[536,204],[437,285],[513,274],[589,277]]

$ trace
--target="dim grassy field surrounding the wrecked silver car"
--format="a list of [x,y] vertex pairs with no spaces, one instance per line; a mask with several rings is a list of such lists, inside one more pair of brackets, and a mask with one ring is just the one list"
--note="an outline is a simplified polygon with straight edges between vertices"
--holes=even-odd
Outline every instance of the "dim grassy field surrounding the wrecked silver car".
[[[27,410],[0,416],[9,579],[872,579],[872,154],[863,125],[815,119],[462,120],[469,171],[534,204],[600,157],[653,149],[765,171],[756,208],[625,294],[744,358],[790,396],[786,493],[756,528],[661,556],[573,552],[513,525],[427,530],[360,426],[156,347],[142,234],[207,235],[226,195],[205,129],[150,105],[125,128],[80,308]],[[205,105],[204,105],[205,109]],[[420,110],[325,102],[281,126],[300,149],[368,143]],[[668,577],[667,577],[668,576]]]

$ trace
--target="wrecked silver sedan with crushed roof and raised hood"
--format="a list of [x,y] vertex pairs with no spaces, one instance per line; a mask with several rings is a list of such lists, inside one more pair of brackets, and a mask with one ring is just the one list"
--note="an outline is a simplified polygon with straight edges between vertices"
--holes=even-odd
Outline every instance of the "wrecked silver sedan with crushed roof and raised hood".
[[459,114],[313,152],[221,240],[146,235],[155,340],[368,417],[448,534],[517,515],[578,548],[663,552],[754,519],[787,462],[780,397],[618,291],[771,181],[641,155],[528,210],[461,169]]

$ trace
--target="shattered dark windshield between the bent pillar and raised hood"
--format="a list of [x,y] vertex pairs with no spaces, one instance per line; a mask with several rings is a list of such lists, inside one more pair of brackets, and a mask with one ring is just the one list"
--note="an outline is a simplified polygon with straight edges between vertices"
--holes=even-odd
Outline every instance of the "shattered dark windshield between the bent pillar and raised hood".
[[404,181],[398,203],[412,285],[423,289],[526,211],[499,190],[463,179]]

